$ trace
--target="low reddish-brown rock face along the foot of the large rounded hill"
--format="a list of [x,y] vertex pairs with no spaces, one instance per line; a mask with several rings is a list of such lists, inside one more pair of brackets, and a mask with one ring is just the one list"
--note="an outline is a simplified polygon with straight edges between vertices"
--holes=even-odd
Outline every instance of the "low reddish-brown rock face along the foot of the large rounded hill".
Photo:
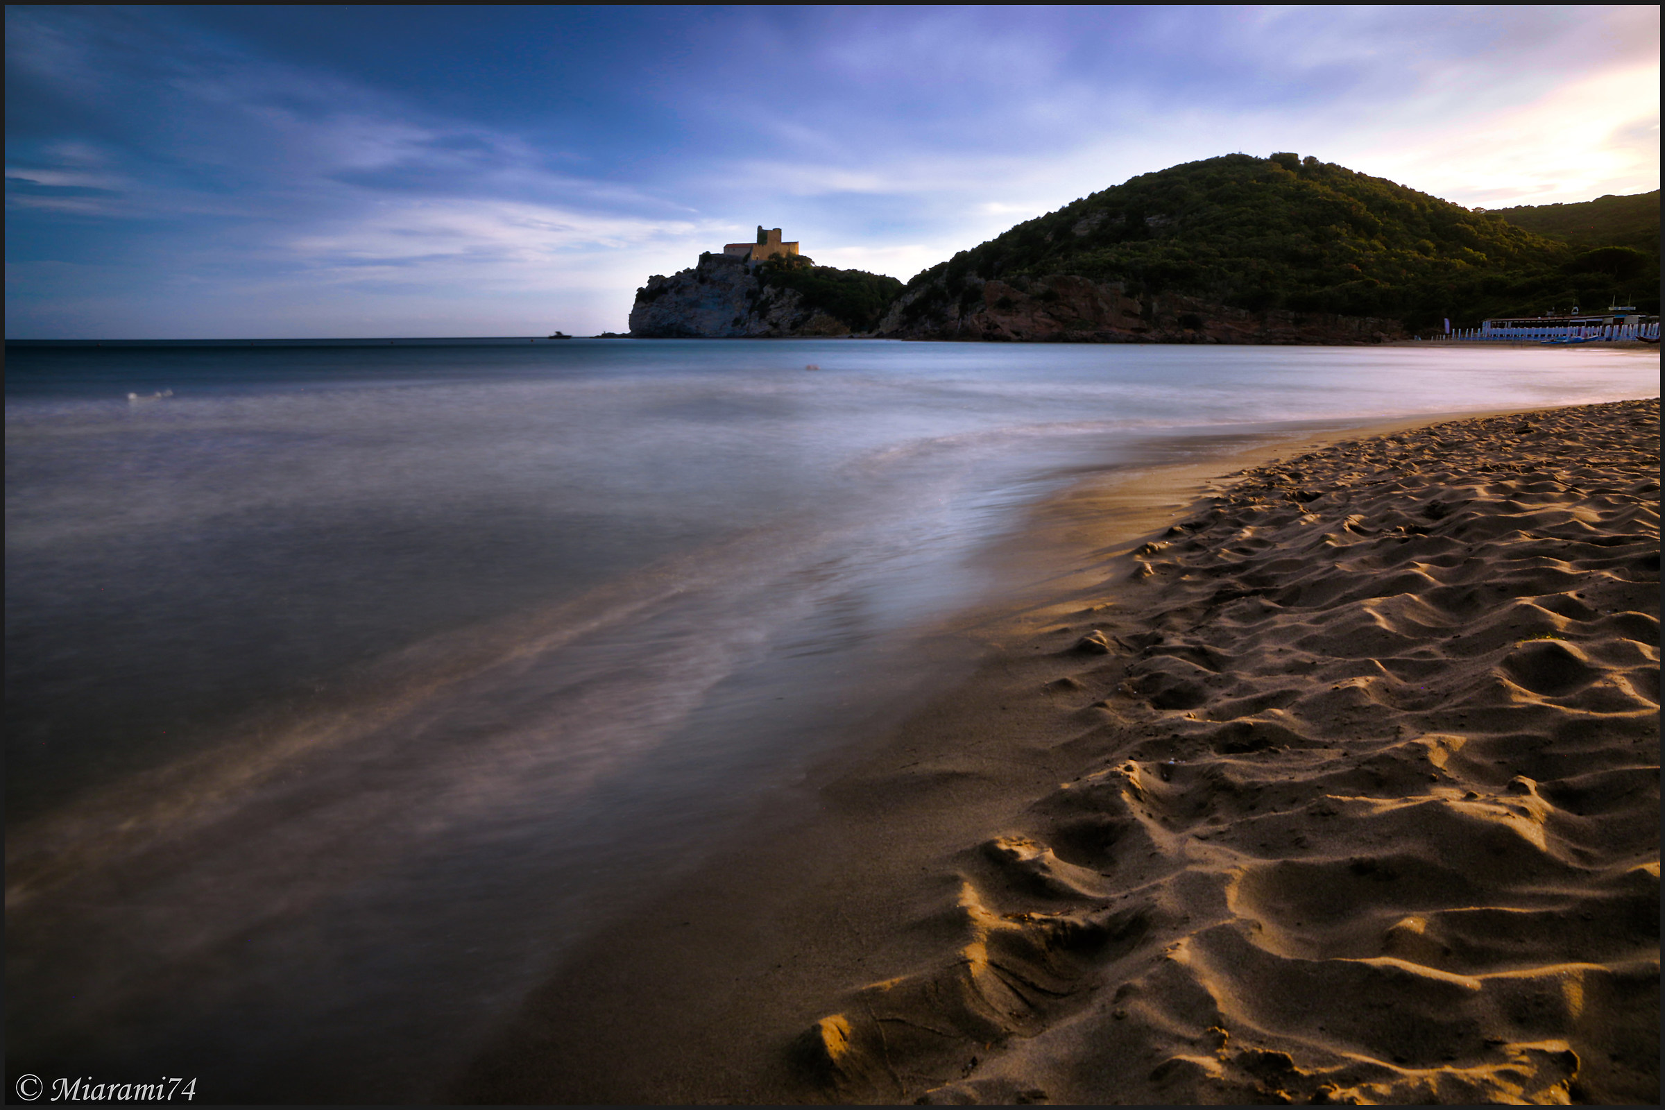
[[1027,343],[1382,343],[1407,333],[1397,320],[1282,310],[1249,311],[1194,296],[1134,298],[1119,281],[946,278],[902,293],[877,334],[891,339]]

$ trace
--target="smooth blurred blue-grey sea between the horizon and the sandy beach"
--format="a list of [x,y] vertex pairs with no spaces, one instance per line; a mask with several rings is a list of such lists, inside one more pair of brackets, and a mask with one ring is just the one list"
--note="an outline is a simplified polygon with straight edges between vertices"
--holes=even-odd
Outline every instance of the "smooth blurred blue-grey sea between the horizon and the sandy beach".
[[[1658,391],[1620,351],[7,346],[8,1068],[425,1098],[882,727],[1084,468]],[[806,369],[814,364],[818,369]],[[949,652],[952,654],[952,652]]]

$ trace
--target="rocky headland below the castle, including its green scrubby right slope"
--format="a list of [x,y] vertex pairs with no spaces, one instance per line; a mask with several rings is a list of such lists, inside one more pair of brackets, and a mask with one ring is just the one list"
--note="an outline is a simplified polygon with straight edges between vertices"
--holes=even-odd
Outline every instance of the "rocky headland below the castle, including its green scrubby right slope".
[[902,288],[894,278],[816,266],[811,260],[748,263],[701,255],[636,290],[629,333],[643,339],[739,339],[871,334]]

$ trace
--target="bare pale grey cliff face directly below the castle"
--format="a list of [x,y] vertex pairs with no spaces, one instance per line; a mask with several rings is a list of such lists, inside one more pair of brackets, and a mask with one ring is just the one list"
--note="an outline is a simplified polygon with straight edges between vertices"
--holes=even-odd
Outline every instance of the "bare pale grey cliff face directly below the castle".
[[638,339],[778,339],[851,334],[849,325],[809,308],[798,290],[764,288],[758,265],[701,255],[699,265],[654,275],[636,290],[629,333]]

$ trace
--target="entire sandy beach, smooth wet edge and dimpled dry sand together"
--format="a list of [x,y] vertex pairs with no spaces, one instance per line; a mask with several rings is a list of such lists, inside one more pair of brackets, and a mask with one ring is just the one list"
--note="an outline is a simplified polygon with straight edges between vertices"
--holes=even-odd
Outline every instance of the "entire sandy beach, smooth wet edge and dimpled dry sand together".
[[448,1097],[1657,1102],[1658,403],[1425,424],[1047,504],[969,682]]

